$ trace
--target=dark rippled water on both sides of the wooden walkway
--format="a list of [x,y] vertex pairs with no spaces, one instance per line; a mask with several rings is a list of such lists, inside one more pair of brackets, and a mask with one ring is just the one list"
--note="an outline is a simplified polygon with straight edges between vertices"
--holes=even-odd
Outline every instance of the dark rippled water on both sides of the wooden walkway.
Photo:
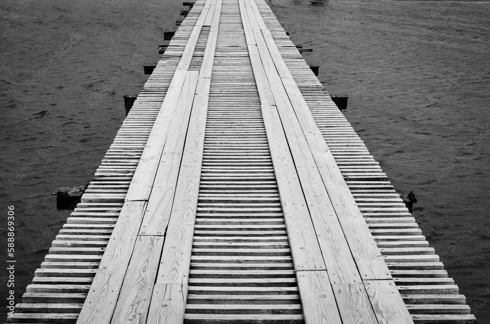
[[[417,194],[422,231],[489,324],[490,3],[269,3],[327,90],[349,95],[345,116],[395,188]],[[180,4],[0,0],[1,246],[13,205],[17,301],[69,216],[51,192],[90,181]]]

